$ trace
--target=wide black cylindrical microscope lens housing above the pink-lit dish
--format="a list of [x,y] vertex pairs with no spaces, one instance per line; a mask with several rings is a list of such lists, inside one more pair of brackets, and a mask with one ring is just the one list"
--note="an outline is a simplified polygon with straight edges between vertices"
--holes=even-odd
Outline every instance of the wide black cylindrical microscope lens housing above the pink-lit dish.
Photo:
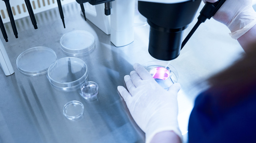
[[167,61],[180,55],[184,29],[193,21],[200,3],[201,0],[172,4],[138,1],[138,10],[150,25],[151,56]]

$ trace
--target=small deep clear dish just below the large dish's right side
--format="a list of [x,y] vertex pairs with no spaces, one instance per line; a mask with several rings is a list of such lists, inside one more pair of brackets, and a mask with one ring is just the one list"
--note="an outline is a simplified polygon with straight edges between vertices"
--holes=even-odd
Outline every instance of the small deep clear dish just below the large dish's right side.
[[88,81],[81,86],[81,92],[84,97],[92,98],[98,94],[98,85],[95,82]]

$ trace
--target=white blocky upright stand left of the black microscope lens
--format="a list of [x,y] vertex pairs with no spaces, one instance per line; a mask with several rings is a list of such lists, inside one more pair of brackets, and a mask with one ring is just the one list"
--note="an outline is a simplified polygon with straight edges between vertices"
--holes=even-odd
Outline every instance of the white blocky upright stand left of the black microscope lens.
[[[110,31],[110,40],[116,47],[125,46],[133,42],[135,0],[115,0],[111,2],[110,22],[104,14],[104,4],[94,7],[96,12],[86,8],[86,17],[107,35]],[[101,17],[104,18],[102,19]]]

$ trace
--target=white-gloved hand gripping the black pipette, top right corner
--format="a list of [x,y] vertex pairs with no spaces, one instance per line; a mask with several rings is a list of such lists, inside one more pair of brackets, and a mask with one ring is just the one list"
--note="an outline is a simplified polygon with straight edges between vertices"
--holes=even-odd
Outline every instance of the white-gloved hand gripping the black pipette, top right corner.
[[[203,0],[217,2],[217,0]],[[226,0],[213,18],[225,24],[233,39],[238,39],[256,24],[256,12],[252,0]]]

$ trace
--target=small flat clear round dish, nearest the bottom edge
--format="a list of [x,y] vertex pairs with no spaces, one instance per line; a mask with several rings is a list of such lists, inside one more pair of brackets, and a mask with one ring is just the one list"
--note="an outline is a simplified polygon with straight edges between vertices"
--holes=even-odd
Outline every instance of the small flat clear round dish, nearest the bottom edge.
[[84,105],[79,101],[70,101],[63,107],[63,115],[69,120],[77,120],[84,113]]

